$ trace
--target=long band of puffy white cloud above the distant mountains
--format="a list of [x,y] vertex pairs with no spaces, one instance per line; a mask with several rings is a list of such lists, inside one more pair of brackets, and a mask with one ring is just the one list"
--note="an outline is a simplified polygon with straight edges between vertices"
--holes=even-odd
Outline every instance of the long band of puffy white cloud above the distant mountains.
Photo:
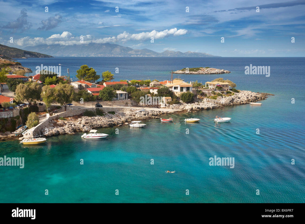
[[[64,31],[62,34],[52,34],[48,38],[43,37],[23,37],[14,42],[19,46],[36,46],[39,44],[60,44],[60,45],[74,45],[74,44],[89,44],[89,43],[116,43],[116,42],[126,42],[126,41],[145,41],[150,40],[151,37],[154,39],[162,39],[164,37],[168,37],[170,35],[179,36],[185,35],[188,30],[173,28],[170,30],[156,31],[152,30],[151,32],[142,32],[138,34],[130,34],[126,31],[117,35],[116,37],[104,37],[99,39],[94,39],[91,35],[82,35],[82,36],[74,36],[68,31]],[[81,42],[80,40],[83,40]]]

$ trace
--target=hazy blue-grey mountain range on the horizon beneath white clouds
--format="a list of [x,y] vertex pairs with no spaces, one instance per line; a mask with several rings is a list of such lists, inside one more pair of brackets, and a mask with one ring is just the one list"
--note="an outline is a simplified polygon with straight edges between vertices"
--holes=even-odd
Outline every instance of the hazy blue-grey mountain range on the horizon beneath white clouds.
[[162,53],[144,49],[132,49],[118,44],[74,44],[62,46],[59,44],[42,44],[37,46],[28,46],[25,49],[29,51],[39,51],[44,54],[64,57],[219,57],[206,53],[198,52],[174,52],[164,51]]

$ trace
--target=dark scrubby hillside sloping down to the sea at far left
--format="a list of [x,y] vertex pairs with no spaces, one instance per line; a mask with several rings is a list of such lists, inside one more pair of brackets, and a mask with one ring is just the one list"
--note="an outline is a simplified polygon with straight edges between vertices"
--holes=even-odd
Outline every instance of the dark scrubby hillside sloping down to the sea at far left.
[[12,58],[53,58],[51,55],[45,55],[37,52],[25,51],[18,48],[12,48],[0,44],[0,55],[4,55],[3,59]]

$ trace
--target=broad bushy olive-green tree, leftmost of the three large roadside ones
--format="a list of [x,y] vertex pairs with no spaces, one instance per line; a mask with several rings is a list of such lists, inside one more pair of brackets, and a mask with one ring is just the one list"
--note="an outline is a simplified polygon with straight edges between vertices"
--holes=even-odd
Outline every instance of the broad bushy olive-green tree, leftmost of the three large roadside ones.
[[15,92],[17,101],[26,100],[31,105],[32,101],[40,99],[41,86],[35,82],[20,83]]

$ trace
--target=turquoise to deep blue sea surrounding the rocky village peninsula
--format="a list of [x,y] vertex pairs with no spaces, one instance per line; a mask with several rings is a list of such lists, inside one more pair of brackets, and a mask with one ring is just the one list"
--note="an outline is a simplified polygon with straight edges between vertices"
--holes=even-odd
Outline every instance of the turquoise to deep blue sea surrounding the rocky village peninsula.
[[[275,94],[261,106],[236,105],[171,115],[173,123],[145,120],[100,129],[109,136],[84,140],[81,133],[48,137],[26,147],[0,143],[0,157],[24,157],[23,169],[0,166],[0,202],[203,202],[303,203],[305,200],[305,58],[126,58],[56,57],[18,59],[23,66],[62,64],[70,78],[83,64],[120,79],[170,79],[171,70],[213,67],[220,75],[174,74],[205,83],[223,77],[237,89]],[[246,75],[245,66],[270,66],[270,77]],[[119,73],[115,73],[119,68]],[[33,75],[33,74],[30,74]],[[294,103],[292,103],[294,98]],[[215,124],[215,116],[231,121]],[[168,117],[168,116],[164,116]],[[199,123],[184,123],[196,117]],[[119,128],[119,134],[115,129]],[[186,134],[186,129],[189,134]],[[257,129],[260,133],[257,134]],[[210,157],[234,157],[235,167],[210,166]],[[80,160],[84,159],[84,165]],[[154,164],[151,165],[151,159]],[[294,165],[292,164],[294,160]],[[165,171],[175,173],[165,173]],[[48,195],[45,190],[48,189]],[[116,195],[118,190],[119,195]],[[186,195],[186,190],[189,195]],[[257,195],[259,190],[259,195]]]

